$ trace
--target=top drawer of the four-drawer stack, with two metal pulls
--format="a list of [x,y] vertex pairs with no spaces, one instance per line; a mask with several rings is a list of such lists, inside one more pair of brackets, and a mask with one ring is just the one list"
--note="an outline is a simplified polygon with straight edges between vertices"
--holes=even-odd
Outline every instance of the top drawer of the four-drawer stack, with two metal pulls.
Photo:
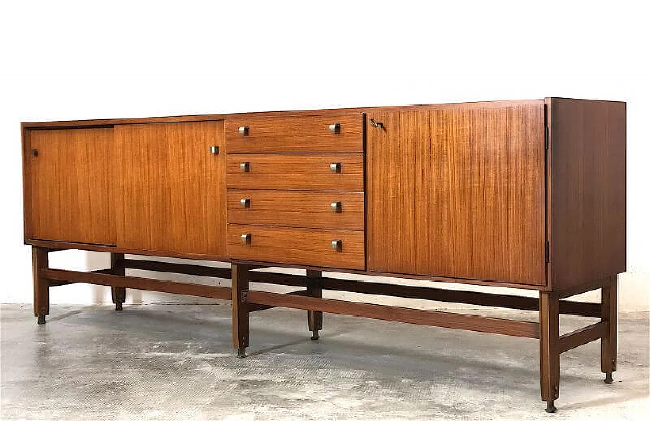
[[363,114],[226,120],[227,153],[361,152]]

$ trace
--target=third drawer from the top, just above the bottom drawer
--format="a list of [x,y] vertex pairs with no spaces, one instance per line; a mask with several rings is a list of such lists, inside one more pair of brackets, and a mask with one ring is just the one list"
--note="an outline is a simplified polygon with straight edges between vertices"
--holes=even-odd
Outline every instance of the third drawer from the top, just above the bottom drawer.
[[363,230],[363,193],[229,190],[228,222]]

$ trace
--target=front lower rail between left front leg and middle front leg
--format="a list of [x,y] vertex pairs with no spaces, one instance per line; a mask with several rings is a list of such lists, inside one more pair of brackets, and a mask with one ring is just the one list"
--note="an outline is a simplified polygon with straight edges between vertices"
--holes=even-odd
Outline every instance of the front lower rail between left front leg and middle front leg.
[[[83,282],[95,285],[110,285],[111,287],[134,288],[141,290],[169,292],[197,297],[218,298],[230,300],[230,288],[216,285],[201,285],[185,282],[162,281],[133,276],[110,275],[98,272],[77,272],[72,270],[41,269],[42,277],[55,282]],[[62,285],[62,284],[59,284]]]

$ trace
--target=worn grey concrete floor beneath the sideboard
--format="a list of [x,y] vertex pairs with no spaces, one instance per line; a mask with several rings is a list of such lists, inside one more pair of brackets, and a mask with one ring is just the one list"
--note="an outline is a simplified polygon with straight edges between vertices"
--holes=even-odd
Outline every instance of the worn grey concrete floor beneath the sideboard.
[[[535,320],[536,313],[481,311]],[[649,318],[620,315],[615,383],[600,344],[562,354],[558,412],[539,396],[537,340],[306,312],[252,316],[231,348],[229,304],[1,307],[3,420],[635,420],[650,411]],[[562,316],[562,331],[590,319]]]

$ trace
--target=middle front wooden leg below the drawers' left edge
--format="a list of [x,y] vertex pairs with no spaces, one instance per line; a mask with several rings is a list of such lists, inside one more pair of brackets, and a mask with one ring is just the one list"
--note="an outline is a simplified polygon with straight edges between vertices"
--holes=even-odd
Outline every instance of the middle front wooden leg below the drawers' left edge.
[[232,293],[233,316],[233,346],[237,357],[246,357],[250,338],[249,305],[242,299],[242,291],[248,291],[248,271],[251,266],[246,264],[231,264],[230,279]]

